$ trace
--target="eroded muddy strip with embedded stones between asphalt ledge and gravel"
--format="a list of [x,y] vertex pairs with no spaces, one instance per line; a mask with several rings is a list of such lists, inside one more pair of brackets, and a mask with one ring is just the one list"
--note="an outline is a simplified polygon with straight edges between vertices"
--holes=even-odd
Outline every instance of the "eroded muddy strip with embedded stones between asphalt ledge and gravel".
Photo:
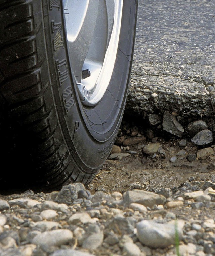
[[112,154],[88,186],[92,191],[174,189],[194,180],[215,182],[213,142],[196,145],[188,134],[178,138],[162,130],[129,124],[128,120],[118,135]]

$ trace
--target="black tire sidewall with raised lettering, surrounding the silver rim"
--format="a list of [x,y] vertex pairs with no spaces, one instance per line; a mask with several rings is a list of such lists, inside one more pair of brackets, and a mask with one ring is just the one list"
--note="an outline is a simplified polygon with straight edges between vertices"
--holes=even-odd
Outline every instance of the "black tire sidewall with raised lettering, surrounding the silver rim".
[[[123,2],[114,70],[104,96],[93,108],[83,106],[75,86],[62,1],[55,5],[52,3],[49,0],[45,21],[57,118],[73,160],[86,173],[93,173],[100,169],[110,153],[121,123],[133,57],[137,3]],[[61,33],[62,41],[56,41],[57,33]]]

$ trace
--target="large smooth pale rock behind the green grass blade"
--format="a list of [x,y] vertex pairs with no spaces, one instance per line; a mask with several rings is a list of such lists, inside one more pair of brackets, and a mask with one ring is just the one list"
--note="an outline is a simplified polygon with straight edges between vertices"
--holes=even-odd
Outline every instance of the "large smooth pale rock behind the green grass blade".
[[167,247],[176,242],[176,230],[179,240],[183,236],[183,220],[157,223],[153,220],[143,220],[137,223],[137,237],[148,247]]

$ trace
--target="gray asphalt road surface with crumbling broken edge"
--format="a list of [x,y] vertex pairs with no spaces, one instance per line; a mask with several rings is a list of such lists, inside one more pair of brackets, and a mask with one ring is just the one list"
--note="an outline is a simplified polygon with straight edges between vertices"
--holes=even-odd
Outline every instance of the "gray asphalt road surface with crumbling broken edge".
[[213,118],[215,1],[139,0],[126,109]]

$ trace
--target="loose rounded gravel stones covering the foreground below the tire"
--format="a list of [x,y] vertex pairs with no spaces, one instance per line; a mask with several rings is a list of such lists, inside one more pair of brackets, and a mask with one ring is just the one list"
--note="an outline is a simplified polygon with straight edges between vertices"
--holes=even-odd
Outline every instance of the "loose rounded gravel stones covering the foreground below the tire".
[[[182,184],[172,194],[163,193],[166,197],[138,189],[123,195],[117,191],[91,194],[80,183],[55,191],[53,201],[53,192],[1,196],[9,208],[0,214],[0,254],[175,255],[178,241],[180,255],[211,256],[215,252],[215,190],[209,185],[215,184],[197,183]],[[71,193],[80,189],[88,195],[84,200],[84,193]],[[70,200],[64,197],[67,203],[62,208],[57,201],[63,191],[70,191]],[[86,206],[86,200],[97,206]],[[187,216],[190,210],[192,218]]]

